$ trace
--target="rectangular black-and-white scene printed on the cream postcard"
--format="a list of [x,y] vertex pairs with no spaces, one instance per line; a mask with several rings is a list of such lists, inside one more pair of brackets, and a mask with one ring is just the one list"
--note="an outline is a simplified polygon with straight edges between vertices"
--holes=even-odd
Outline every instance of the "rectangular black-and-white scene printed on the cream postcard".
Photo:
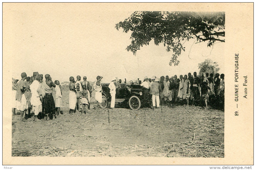
[[13,157],[224,157],[225,12],[36,8],[9,21]]

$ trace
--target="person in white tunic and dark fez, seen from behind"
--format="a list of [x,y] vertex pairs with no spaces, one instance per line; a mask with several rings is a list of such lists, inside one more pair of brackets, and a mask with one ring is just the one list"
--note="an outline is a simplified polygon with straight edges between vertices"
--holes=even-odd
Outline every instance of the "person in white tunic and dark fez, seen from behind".
[[37,89],[40,86],[39,83],[39,74],[38,72],[33,73],[34,81],[30,85],[31,90],[31,105],[32,110],[34,112],[34,118],[33,121],[38,120],[38,114],[42,112],[42,102],[40,101],[39,93],[37,92]]

